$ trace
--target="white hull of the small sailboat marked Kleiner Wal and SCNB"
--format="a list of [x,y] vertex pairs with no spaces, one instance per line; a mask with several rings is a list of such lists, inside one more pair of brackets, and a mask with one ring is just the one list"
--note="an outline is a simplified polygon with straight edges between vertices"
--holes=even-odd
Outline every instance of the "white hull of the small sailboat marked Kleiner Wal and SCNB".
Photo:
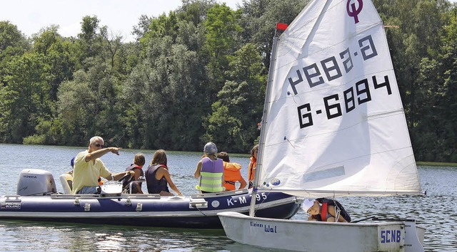
[[238,243],[291,251],[423,251],[424,229],[414,222],[370,224],[274,220],[218,214],[226,236]]

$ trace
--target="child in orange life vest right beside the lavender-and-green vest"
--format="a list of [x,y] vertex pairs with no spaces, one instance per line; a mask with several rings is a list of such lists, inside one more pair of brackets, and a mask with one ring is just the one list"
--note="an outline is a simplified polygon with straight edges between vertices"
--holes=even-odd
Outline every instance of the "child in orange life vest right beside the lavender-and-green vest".
[[224,187],[226,191],[234,191],[236,182],[240,182],[238,190],[246,187],[246,180],[243,179],[240,172],[241,164],[231,163],[227,152],[221,152],[217,157],[224,160]]

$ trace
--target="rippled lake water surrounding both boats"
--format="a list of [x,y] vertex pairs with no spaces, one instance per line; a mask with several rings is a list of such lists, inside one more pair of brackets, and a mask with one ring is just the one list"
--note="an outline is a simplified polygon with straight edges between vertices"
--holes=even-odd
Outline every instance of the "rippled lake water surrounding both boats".
[[[22,169],[45,169],[54,175],[71,170],[70,159],[84,147],[0,144],[0,195],[16,194]],[[123,172],[136,152],[151,162],[152,150],[126,149],[101,159],[111,172]],[[195,193],[194,171],[201,153],[167,152],[174,183],[184,195]],[[236,155],[247,177],[248,156]],[[418,167],[426,196],[346,197],[339,201],[353,220],[369,216],[414,218],[426,227],[426,251],[457,251],[457,167]],[[306,219],[302,210],[293,219]],[[0,221],[0,251],[274,251],[235,243],[224,230],[164,229],[135,226],[51,224]]]

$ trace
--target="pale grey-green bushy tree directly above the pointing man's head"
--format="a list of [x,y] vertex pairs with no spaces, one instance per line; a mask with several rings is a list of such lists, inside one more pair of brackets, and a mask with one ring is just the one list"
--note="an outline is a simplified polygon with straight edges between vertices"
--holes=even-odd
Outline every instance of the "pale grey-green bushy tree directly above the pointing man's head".
[[109,74],[109,65],[100,59],[88,63],[87,72],[77,71],[74,80],[59,88],[58,120],[63,124],[62,135],[72,144],[84,144],[89,137],[101,135],[109,144],[121,145],[121,83]]

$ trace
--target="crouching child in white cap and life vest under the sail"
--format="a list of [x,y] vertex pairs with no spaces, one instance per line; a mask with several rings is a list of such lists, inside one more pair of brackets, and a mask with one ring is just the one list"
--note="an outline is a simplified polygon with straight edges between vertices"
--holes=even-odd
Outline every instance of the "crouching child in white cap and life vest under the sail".
[[325,202],[321,205],[318,200],[305,199],[302,208],[306,213],[311,214],[308,217],[308,221],[336,222],[336,218],[338,218],[338,222],[351,221],[350,217],[348,217],[348,221],[344,219],[343,214],[340,212],[341,210],[336,206],[331,206]]

